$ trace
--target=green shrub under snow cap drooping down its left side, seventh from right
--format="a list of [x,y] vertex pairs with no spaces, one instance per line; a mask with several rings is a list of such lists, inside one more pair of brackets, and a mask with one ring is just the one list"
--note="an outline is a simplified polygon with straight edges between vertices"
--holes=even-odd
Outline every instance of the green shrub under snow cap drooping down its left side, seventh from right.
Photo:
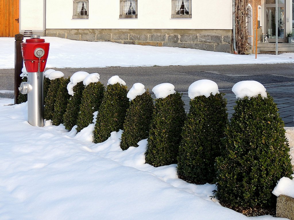
[[71,130],[77,123],[78,112],[80,111],[80,105],[82,100],[82,94],[85,86],[83,82],[78,82],[73,88],[74,96],[71,96],[69,103],[66,107],[66,112],[64,114],[64,126],[67,130]]

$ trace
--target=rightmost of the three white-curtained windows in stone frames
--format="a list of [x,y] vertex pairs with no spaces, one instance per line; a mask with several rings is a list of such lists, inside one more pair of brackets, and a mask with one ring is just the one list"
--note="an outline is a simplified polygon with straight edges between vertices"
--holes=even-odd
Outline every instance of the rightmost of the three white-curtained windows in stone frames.
[[192,18],[192,0],[172,0],[171,18]]

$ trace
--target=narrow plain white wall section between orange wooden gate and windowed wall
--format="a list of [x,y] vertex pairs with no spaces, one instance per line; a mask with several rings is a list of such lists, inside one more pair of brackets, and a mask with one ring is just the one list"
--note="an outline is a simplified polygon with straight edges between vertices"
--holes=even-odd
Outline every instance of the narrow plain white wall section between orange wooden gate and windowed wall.
[[44,31],[44,0],[20,0],[20,31]]

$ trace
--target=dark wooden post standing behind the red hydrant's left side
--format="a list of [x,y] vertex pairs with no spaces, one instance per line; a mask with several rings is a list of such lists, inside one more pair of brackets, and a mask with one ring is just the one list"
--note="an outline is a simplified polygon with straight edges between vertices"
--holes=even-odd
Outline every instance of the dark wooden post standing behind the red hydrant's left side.
[[14,104],[17,104],[19,96],[19,85],[21,84],[21,70],[24,67],[24,59],[21,53],[21,43],[24,40],[23,34],[16,34],[15,37],[15,50],[14,50]]

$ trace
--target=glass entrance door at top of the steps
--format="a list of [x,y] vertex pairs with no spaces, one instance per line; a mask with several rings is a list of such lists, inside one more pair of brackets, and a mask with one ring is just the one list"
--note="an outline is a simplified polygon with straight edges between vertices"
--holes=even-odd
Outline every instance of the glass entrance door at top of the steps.
[[[275,0],[265,1],[265,31],[269,42],[275,42],[276,37],[278,41],[285,41],[285,0],[278,1],[278,22],[276,22],[276,8]],[[270,4],[269,4],[270,3]],[[276,36],[276,25],[278,25],[278,36]]]

